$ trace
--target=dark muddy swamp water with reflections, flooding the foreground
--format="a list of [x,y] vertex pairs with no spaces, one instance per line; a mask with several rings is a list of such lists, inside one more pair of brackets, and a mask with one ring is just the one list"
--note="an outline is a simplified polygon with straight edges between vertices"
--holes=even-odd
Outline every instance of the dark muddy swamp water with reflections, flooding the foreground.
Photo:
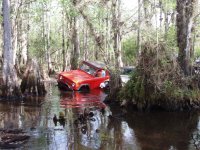
[[[31,135],[20,149],[200,149],[198,112],[124,115],[116,106],[102,102],[106,94],[101,90],[64,92],[50,84],[48,91],[45,98],[0,103],[0,128],[22,128]],[[59,120],[55,126],[53,117],[58,119],[59,114],[65,121]]]

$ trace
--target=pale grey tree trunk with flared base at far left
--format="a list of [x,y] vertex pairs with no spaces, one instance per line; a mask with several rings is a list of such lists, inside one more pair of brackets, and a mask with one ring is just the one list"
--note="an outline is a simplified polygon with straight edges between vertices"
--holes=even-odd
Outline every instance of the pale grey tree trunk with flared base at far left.
[[18,78],[14,68],[13,49],[11,42],[10,1],[3,0],[3,89],[2,95],[6,97],[21,96]]

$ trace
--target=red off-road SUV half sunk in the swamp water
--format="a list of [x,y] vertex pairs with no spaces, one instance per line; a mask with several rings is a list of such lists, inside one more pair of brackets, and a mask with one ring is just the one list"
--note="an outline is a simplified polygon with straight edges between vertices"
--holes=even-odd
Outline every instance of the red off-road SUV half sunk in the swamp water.
[[83,61],[77,70],[64,71],[58,75],[58,86],[70,90],[105,88],[110,74],[102,62]]

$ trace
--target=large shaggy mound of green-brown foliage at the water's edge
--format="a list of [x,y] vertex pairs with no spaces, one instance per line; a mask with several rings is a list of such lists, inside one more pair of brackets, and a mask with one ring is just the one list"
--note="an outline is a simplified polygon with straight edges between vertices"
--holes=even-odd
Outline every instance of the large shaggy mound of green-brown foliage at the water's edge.
[[[200,101],[198,81],[185,78],[177,62],[170,57],[170,49],[163,42],[142,46],[138,66],[129,82],[120,91],[121,99],[134,101],[139,109],[166,104],[168,109],[187,106],[188,100]],[[159,52],[157,54],[157,52]],[[188,106],[187,106],[188,107]],[[167,109],[167,108],[166,108]]]

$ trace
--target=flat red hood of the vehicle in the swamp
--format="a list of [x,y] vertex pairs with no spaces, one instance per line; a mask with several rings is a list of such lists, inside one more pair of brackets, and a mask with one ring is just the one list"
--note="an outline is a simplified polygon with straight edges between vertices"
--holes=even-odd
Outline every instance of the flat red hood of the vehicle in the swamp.
[[71,70],[71,71],[61,72],[60,75],[62,75],[64,78],[67,78],[75,83],[93,78],[92,75],[82,70]]

